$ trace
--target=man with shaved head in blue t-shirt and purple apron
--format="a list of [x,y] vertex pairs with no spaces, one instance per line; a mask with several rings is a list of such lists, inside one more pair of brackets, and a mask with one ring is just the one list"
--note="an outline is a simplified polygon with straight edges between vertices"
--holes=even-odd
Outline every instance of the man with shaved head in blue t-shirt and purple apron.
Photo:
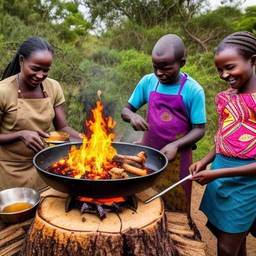
[[[205,132],[205,97],[201,85],[180,68],[185,65],[184,43],[175,34],[162,36],[152,50],[154,73],[145,75],[121,111],[134,130],[142,130],[142,145],[163,152],[169,164],[155,185],[162,190],[189,174],[191,146]],[[148,103],[147,120],[136,114]],[[165,207],[190,213],[192,182],[186,180],[165,193]]]

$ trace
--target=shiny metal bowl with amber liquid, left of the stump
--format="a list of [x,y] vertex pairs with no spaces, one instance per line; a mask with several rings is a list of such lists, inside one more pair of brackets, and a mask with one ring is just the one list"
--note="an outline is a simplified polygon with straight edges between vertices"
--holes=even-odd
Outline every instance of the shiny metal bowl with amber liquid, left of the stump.
[[[32,188],[14,187],[0,191],[0,218],[5,222],[17,222],[34,216],[40,202],[40,193]],[[29,203],[31,207],[13,211],[2,212],[3,208],[16,203]]]

